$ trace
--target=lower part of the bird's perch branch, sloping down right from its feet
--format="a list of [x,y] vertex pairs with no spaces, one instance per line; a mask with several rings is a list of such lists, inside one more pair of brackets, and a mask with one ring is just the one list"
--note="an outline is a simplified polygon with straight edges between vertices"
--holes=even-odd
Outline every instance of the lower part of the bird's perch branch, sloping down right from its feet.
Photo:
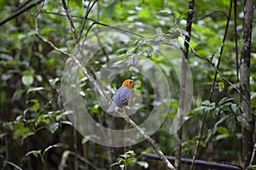
[[158,144],[154,141],[154,139],[152,139],[150,136],[148,136],[147,133],[145,133],[143,131],[143,129],[141,127],[138,127],[137,124],[135,122],[133,122],[131,120],[131,118],[129,116],[126,115],[125,113],[125,109],[122,109],[122,112],[117,111],[117,113],[119,113],[119,116],[122,116],[125,119],[125,122],[127,122],[128,124],[130,124],[132,127],[135,127],[137,132],[140,133],[144,139],[146,139],[148,141],[148,144],[150,144],[152,146],[152,148],[154,149],[154,151],[156,152],[156,154],[158,156],[160,156],[161,161],[163,161],[166,165],[166,168],[168,169],[175,169],[172,166],[172,163],[170,161],[167,160],[166,156],[163,154],[163,152],[160,150],[160,147],[158,146]]

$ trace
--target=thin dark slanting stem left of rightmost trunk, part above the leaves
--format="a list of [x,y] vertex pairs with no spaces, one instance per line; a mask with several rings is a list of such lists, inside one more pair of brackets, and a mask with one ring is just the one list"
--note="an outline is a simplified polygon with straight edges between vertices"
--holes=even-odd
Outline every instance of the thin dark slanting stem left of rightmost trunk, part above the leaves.
[[[221,60],[223,50],[224,50],[224,44],[225,44],[226,37],[227,37],[227,34],[228,34],[228,29],[229,29],[229,26],[230,26],[230,16],[231,16],[231,11],[232,11],[232,5],[233,5],[233,0],[230,0],[230,11],[229,11],[227,24],[226,24],[225,32],[224,32],[224,37],[223,37],[223,40],[222,40],[222,44],[221,44],[221,48],[220,48],[220,52],[219,52],[219,56],[218,56],[218,62],[217,62],[217,66],[216,66],[217,70],[218,70],[218,67],[220,65],[220,60]],[[209,95],[209,100],[210,101],[212,100],[212,94],[213,94],[213,91],[214,91],[217,75],[218,75],[218,72],[215,71],[214,78],[213,78],[213,81],[212,81],[212,88],[211,88],[211,92],[210,92],[210,95]]]

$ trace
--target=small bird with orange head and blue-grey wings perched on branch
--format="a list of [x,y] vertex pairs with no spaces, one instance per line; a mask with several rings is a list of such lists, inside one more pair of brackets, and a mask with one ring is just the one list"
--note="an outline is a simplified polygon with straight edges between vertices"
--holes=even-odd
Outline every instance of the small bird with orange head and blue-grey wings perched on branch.
[[113,94],[111,104],[108,107],[108,113],[113,112],[116,106],[124,107],[125,105],[129,105],[131,101],[132,87],[135,84],[138,84],[138,82],[135,82],[132,79],[126,79],[122,83],[122,87]]

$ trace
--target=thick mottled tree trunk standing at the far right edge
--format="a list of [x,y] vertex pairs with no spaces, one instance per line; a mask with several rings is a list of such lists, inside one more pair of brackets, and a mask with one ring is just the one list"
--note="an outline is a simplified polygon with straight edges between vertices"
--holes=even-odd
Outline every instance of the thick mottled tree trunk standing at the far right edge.
[[254,117],[250,107],[250,59],[251,59],[251,39],[253,27],[253,0],[245,0],[244,18],[241,44],[241,93],[246,99],[241,100],[242,116],[247,120],[249,127],[242,127],[242,153],[243,168],[250,164],[253,153],[253,124]]

